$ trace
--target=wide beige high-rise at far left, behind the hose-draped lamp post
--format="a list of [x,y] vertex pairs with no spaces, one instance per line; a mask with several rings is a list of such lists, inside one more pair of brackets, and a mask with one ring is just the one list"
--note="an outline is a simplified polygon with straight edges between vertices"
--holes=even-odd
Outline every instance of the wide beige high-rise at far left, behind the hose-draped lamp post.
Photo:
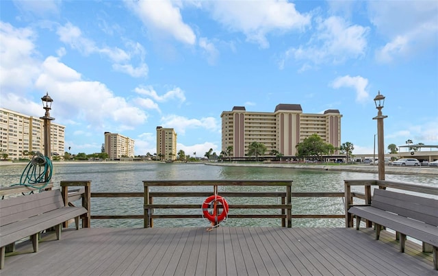
[[[51,153],[64,155],[65,126],[51,121]],[[25,153],[44,154],[44,121],[0,108],[0,153],[8,154],[11,160],[28,158]]]

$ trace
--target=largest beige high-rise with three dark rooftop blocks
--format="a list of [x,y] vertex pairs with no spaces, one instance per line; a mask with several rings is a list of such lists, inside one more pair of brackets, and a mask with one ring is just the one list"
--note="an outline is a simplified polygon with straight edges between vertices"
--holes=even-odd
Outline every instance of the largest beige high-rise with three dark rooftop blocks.
[[318,134],[333,147],[341,145],[339,110],[324,114],[302,113],[301,105],[276,105],[274,112],[246,112],[244,106],[224,111],[222,118],[222,151],[233,147],[231,156],[244,157],[252,142],[266,146],[267,153],[276,150],[284,156],[296,155],[296,145],[312,134]]

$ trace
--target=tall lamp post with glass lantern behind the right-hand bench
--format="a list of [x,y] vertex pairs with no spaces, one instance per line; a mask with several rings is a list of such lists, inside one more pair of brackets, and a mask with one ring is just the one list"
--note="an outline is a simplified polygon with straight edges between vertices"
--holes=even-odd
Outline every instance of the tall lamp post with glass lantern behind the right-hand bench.
[[374,98],[376,108],[378,110],[377,116],[373,120],[377,120],[377,160],[378,160],[378,180],[385,180],[385,143],[383,141],[383,119],[388,116],[383,116],[382,108],[385,103],[385,96],[381,95],[378,91],[378,95]]

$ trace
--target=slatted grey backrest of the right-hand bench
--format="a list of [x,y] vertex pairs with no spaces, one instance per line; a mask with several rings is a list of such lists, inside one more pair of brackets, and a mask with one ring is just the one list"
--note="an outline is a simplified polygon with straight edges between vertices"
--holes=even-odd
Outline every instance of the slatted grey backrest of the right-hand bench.
[[401,216],[438,226],[438,200],[374,189],[371,205]]

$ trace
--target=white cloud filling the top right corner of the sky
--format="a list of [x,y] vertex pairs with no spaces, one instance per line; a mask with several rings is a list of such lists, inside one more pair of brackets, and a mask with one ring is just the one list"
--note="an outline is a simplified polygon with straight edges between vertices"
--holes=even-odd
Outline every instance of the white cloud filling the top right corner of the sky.
[[438,46],[437,1],[369,1],[370,21],[387,40],[376,50],[380,62],[411,58]]

